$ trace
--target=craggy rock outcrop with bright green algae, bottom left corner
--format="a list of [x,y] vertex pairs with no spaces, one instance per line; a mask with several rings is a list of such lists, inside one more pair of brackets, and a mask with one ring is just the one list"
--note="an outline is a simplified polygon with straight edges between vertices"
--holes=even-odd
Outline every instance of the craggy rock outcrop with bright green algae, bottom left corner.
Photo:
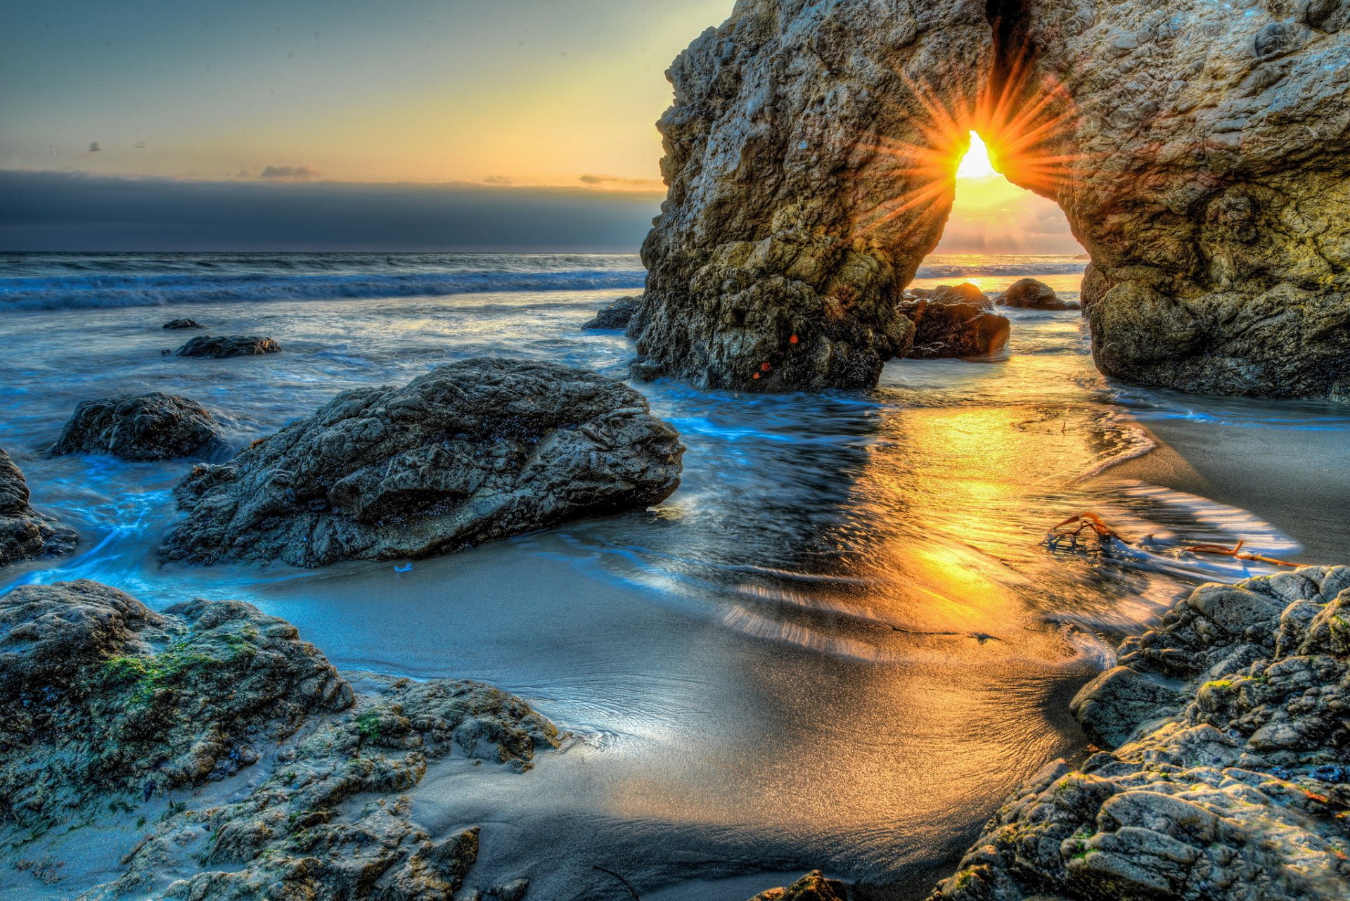
[[[89,581],[0,598],[4,858],[107,858],[70,875],[80,897],[450,897],[478,829],[429,832],[409,793],[443,759],[524,770],[556,744],[520,698],[339,674],[248,604],[155,613]],[[97,827],[99,843],[69,824]],[[11,883],[20,869],[65,878],[32,865]]]

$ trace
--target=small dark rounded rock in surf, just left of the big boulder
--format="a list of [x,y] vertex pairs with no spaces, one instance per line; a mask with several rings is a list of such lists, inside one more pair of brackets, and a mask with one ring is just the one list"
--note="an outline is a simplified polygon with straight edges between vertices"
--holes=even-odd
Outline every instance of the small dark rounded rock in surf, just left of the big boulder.
[[216,420],[205,407],[155,392],[84,401],[76,407],[51,453],[169,459],[201,453],[219,440]]

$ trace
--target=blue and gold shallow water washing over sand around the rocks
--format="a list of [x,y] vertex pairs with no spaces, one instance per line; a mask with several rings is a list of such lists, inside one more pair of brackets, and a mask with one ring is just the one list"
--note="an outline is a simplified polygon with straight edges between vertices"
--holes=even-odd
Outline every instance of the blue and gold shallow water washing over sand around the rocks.
[[[194,397],[242,447],[339,390],[402,384],[470,355],[626,374],[630,343],[580,324],[641,284],[633,257],[379,257],[288,255],[290,276],[252,257],[0,257],[0,446],[34,503],[81,534],[77,554],[9,567],[0,589],[86,577],[151,607],[243,598],[296,623],[339,666],[524,694],[576,732],[568,748],[525,777],[432,781],[417,810],[447,828],[483,823],[474,878],[526,873],[539,897],[626,897],[593,866],[666,898],[744,898],[745,882],[721,879],[760,873],[764,887],[811,866],[922,894],[925,867],[960,851],[1021,778],[1080,751],[1064,701],[1110,665],[1120,634],[1199,581],[1266,571],[1176,544],[1243,539],[1297,552],[1246,511],[1092,480],[1149,448],[1135,420],[1350,432],[1343,408],[1114,386],[1092,367],[1076,313],[1010,311],[1006,358],[892,362],[868,393],[639,384],[688,446],[668,501],[406,573],[161,566],[154,546],[190,462],[45,455],[80,400],[111,393]],[[231,290],[251,270],[266,289],[165,305],[174,296],[161,282],[135,293],[81,281],[45,284],[32,301],[34,280],[66,278],[74,265],[94,278],[108,269],[162,281],[186,269],[200,281],[204,262],[231,267]],[[930,261],[921,274],[934,278],[918,284],[980,274],[979,262]],[[986,290],[1040,267],[1066,296],[1081,269],[1069,258],[986,263]],[[370,270],[386,286],[414,274],[440,288],[332,296],[335,282],[315,281],[370,286]],[[574,290],[576,273],[637,273],[637,285]],[[279,299],[288,285],[301,299]],[[193,334],[159,328],[176,316],[213,334],[270,335],[285,350],[162,357]],[[1040,543],[1083,509],[1152,535],[1156,552],[1103,562]],[[694,878],[710,882],[679,887]]]

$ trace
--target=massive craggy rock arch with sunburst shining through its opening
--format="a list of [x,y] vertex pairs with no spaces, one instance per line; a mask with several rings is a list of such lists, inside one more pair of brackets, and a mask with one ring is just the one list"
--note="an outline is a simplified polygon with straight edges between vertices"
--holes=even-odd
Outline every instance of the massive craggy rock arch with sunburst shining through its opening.
[[636,377],[875,385],[975,128],[1104,373],[1350,398],[1350,0],[740,0],[667,74]]

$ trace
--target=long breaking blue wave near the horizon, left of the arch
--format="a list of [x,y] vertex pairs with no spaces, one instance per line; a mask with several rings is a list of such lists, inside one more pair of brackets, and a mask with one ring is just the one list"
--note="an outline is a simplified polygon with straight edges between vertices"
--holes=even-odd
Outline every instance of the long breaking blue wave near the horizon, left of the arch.
[[524,290],[640,290],[637,270],[458,272],[364,276],[72,276],[0,278],[0,309],[165,307],[267,300],[421,297]]

